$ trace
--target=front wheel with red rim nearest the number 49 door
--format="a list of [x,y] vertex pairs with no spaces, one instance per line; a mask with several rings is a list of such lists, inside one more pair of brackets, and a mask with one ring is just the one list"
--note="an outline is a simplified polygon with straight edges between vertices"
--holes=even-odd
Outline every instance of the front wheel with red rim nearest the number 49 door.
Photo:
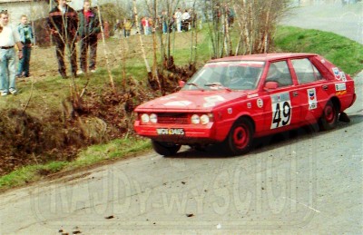
[[231,155],[250,152],[253,141],[253,125],[250,119],[242,117],[234,122],[224,141],[224,147]]

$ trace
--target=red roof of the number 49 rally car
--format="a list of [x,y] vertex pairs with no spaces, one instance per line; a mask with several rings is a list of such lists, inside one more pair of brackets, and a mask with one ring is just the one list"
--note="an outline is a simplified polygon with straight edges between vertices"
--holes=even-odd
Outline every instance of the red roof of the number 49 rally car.
[[293,57],[306,57],[315,56],[317,54],[309,53],[273,53],[273,54],[246,54],[228,56],[219,59],[214,59],[209,62],[229,62],[229,61],[273,61],[279,59],[293,58]]

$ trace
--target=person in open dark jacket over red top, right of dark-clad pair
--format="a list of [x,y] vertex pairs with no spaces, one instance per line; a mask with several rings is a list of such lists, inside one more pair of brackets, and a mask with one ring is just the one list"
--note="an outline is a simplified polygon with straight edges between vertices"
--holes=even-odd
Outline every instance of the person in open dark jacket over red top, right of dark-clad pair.
[[89,0],[84,0],[83,9],[79,11],[78,18],[80,21],[78,35],[81,38],[81,70],[78,71],[78,74],[87,73],[88,47],[90,48],[90,64],[88,68],[91,73],[94,73],[96,69],[97,34],[101,32],[101,25],[96,11],[91,9]]

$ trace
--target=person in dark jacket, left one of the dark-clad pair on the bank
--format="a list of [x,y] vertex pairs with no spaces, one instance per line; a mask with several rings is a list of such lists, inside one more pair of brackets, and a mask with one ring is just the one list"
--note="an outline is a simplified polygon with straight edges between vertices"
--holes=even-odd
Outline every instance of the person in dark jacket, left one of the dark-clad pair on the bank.
[[77,53],[75,47],[76,32],[78,28],[78,15],[74,8],[67,5],[66,0],[57,0],[56,5],[50,12],[48,25],[53,35],[55,53],[58,59],[58,71],[63,78],[67,78],[64,64],[64,49],[67,46],[67,55],[71,61],[71,69],[74,77],[77,73]]

